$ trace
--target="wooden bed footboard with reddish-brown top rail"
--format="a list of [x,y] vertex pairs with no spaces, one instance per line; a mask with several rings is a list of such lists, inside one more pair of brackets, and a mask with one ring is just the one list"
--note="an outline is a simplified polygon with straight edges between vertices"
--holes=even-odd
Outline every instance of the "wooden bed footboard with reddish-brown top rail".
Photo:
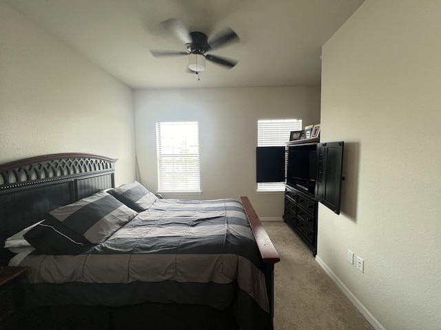
[[269,311],[271,313],[271,329],[274,329],[274,264],[280,261],[280,256],[274,248],[267,231],[263,227],[256,211],[254,210],[248,197],[240,197],[243,208],[247,214],[249,225],[254,234],[254,239],[260,251],[260,257],[265,265],[265,284],[267,285],[267,296]]

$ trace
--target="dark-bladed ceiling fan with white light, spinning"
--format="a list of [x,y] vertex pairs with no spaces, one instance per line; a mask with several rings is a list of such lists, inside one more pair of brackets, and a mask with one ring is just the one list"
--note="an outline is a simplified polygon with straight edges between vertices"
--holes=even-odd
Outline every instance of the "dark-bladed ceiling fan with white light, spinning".
[[189,55],[189,72],[196,74],[205,69],[205,59],[218,65],[222,65],[226,69],[231,69],[237,64],[237,61],[229,58],[207,54],[207,52],[217,50],[218,48],[230,43],[238,42],[239,37],[232,29],[226,28],[223,30],[223,32],[216,35],[212,41],[208,41],[207,35],[203,32],[188,32],[185,25],[179,19],[167,19],[166,21],[162,21],[160,24],[163,26],[163,28],[165,28],[165,30],[174,34],[177,39],[185,44],[185,47],[187,47],[187,52],[174,50],[150,50],[153,56],[163,57]]

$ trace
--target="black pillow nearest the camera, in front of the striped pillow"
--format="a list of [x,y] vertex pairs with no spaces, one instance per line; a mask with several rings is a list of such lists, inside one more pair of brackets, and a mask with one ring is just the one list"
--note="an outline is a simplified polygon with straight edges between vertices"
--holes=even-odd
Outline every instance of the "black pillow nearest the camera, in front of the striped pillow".
[[23,237],[42,254],[78,254],[90,247],[90,242],[82,235],[54,219],[37,223]]

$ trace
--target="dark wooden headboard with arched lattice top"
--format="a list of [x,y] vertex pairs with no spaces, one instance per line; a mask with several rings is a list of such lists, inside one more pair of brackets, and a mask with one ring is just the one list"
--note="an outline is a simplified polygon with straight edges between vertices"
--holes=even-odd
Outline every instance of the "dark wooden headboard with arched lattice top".
[[5,239],[44,219],[54,208],[114,187],[116,159],[56,153],[0,165],[0,265],[13,256]]

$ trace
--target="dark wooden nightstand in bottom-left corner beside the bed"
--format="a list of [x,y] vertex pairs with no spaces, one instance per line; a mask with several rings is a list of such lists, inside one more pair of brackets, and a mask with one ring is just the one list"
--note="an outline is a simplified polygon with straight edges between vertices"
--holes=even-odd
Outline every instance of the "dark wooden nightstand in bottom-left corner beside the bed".
[[19,307],[21,287],[17,280],[26,270],[26,267],[0,268],[0,325]]

